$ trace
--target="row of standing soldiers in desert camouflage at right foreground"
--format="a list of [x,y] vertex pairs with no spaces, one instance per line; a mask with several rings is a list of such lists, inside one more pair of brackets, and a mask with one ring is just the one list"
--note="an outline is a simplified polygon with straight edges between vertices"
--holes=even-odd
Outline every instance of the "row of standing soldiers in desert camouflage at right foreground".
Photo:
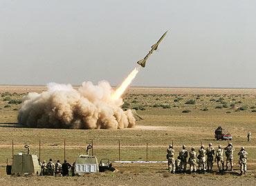
[[[186,146],[183,145],[181,151],[179,152],[179,156],[176,158],[176,160],[174,158],[175,151],[173,145],[170,145],[167,149],[166,156],[168,161],[168,170],[173,174],[175,174],[175,172],[186,173],[188,163],[190,165],[190,174],[192,172],[196,172],[197,165],[199,168],[199,173],[205,174],[205,172],[212,172],[213,163],[214,161],[217,161],[219,172],[224,172],[224,150],[226,154],[226,171],[228,170],[228,167],[230,167],[230,171],[232,171],[234,166],[233,157],[235,151],[235,148],[232,146],[232,143],[228,143],[228,146],[225,147],[224,149],[221,147],[221,145],[219,145],[217,150],[215,150],[214,147],[212,147],[212,143],[209,143],[209,147],[207,147],[206,149],[202,144],[198,151],[198,154],[196,153],[194,147],[192,147],[191,151],[188,152]],[[240,174],[246,174],[248,153],[246,152],[244,147],[241,147],[238,156],[241,171]]]

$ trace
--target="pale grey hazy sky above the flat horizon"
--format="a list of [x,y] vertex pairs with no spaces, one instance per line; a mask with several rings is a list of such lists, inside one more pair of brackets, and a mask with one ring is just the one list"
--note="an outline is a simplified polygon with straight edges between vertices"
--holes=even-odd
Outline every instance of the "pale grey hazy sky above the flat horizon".
[[256,1],[0,0],[0,84],[256,87]]

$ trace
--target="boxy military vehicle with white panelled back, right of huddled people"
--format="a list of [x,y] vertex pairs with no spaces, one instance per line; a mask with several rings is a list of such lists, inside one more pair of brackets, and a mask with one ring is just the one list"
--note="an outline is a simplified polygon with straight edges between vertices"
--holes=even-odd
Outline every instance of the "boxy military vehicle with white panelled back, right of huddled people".
[[95,156],[89,155],[89,149],[92,145],[88,145],[86,149],[86,155],[80,155],[74,165],[75,176],[82,176],[87,173],[99,172],[98,159]]

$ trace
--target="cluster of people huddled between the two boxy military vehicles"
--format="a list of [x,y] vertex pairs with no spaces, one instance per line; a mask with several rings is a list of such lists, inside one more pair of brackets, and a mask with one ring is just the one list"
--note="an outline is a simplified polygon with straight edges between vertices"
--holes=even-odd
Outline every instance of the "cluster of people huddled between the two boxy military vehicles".
[[69,169],[72,168],[73,166],[66,160],[61,164],[59,160],[53,163],[50,159],[48,163],[46,161],[41,163],[41,176],[68,176]]

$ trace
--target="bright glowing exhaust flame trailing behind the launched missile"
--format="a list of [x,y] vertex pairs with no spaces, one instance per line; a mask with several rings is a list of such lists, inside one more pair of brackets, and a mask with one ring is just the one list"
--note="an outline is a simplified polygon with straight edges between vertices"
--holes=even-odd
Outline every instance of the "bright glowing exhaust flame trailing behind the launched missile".
[[118,87],[118,89],[111,95],[112,99],[120,99],[122,94],[124,94],[125,90],[127,90],[127,87],[131,84],[131,81],[133,81],[136,75],[138,74],[139,70],[140,68],[136,67],[134,68],[133,71],[131,71],[131,73],[127,76],[125,81],[123,81],[120,87]]

